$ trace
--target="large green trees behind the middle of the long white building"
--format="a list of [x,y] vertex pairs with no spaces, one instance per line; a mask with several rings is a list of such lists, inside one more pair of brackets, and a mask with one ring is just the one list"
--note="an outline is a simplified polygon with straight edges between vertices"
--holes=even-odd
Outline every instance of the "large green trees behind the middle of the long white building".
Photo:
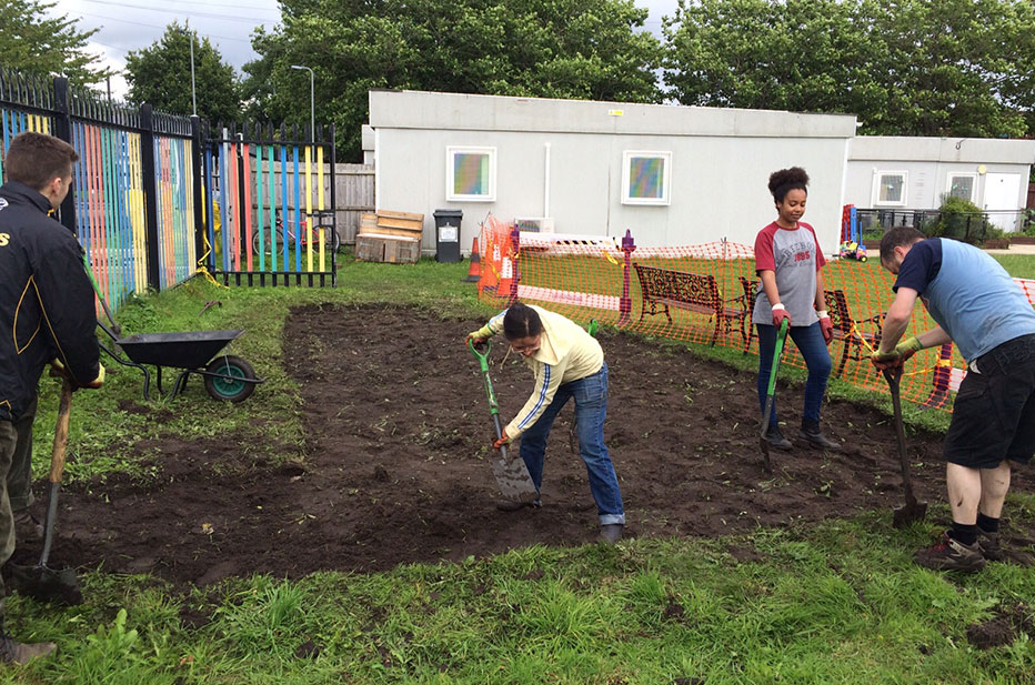
[[360,153],[372,88],[657,102],[657,39],[632,0],[281,0],[283,26],[258,30],[247,64],[250,112],[334,122]]

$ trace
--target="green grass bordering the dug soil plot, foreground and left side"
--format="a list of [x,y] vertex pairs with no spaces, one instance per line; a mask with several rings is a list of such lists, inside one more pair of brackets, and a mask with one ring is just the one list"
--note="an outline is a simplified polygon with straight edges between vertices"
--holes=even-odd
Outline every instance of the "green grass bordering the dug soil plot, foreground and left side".
[[[267,385],[241,405],[209,400],[200,386],[174,402],[142,403],[141,377],[112,367],[100,392],[73,402],[71,479],[114,471],[151,477],[137,441],[165,432],[234,441],[270,460],[303,453],[299,390],[281,366],[281,333],[301,303],[413,303],[449,316],[484,316],[466,264],[413,266],[346,260],[339,288],[218,289],[192,282],[125,306],[125,332],[244,328],[231,352],[253,362]],[[222,306],[199,316],[207,301]],[[433,335],[433,332],[429,333]],[[675,344],[657,341],[659,344]],[[442,343],[444,344],[444,343]],[[732,349],[696,353],[754,370]],[[798,370],[790,372],[801,379]],[[832,394],[881,403],[834,382]],[[40,409],[37,469],[48,456]],[[269,421],[277,416],[278,421]],[[911,416],[913,416],[911,414]],[[918,421],[939,419],[934,412]],[[262,421],[252,421],[262,419]],[[937,421],[933,426],[942,426]],[[944,427],[944,426],[942,426]],[[1035,496],[1012,494],[1013,520],[1035,525]],[[230,578],[172,592],[148,576],[83,576],[88,603],[73,608],[8,598],[8,627],[21,639],[53,639],[59,654],[0,669],[4,683],[309,684],[697,683],[1029,684],[1035,642],[973,648],[969,624],[999,605],[1031,602],[1035,572],[992,565],[963,577],[911,563],[947,512],[896,531],[886,512],[810,527],[758,530],[726,540],[634,540],[616,547],[533,546],[456,564],[386,573],[319,573],[298,582]],[[757,561],[737,562],[731,548]],[[211,617],[200,627],[181,613]]]

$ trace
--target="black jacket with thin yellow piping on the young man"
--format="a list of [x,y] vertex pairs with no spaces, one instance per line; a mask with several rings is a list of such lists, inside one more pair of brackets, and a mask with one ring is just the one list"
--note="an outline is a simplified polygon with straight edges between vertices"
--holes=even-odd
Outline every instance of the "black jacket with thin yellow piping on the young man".
[[99,373],[82,249],[49,211],[50,201],[32,188],[0,187],[0,421],[21,415],[52,359],[79,384]]

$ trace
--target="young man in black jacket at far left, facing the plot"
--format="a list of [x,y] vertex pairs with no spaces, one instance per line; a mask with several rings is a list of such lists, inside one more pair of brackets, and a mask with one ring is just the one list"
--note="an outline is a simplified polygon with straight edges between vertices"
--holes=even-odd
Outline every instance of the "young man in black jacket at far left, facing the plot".
[[[14,552],[17,505],[28,507],[37,385],[51,361],[76,387],[100,387],[93,290],[76,235],[49,216],[68,195],[68,143],[42,133],[11,141],[0,187],[0,564]],[[20,500],[20,501],[19,501]],[[28,515],[21,511],[19,515]],[[31,518],[29,520],[31,524]],[[24,526],[31,532],[32,526]],[[3,627],[0,581],[0,662],[24,663],[53,643],[14,642]]]

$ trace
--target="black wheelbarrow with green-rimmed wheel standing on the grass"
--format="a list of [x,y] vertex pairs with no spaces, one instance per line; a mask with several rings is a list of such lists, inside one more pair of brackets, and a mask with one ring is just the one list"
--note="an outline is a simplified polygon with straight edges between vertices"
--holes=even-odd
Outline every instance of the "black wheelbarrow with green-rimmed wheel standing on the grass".
[[189,331],[185,333],[137,333],[121,338],[98,321],[98,325],[122,350],[125,359],[104,343],[101,349],[123,366],[134,366],[143,373],[143,399],[150,400],[151,373],[144,364],[157,369],[158,392],[162,389],[162,367],[179,369],[180,374],[172,384],[169,397],[175,397],[187,387],[187,379],[195,373],[204,377],[204,389],[215,400],[243,402],[264,379],[255,376],[252,365],[240,356],[217,356],[231,341],[244,332],[237,331]]

